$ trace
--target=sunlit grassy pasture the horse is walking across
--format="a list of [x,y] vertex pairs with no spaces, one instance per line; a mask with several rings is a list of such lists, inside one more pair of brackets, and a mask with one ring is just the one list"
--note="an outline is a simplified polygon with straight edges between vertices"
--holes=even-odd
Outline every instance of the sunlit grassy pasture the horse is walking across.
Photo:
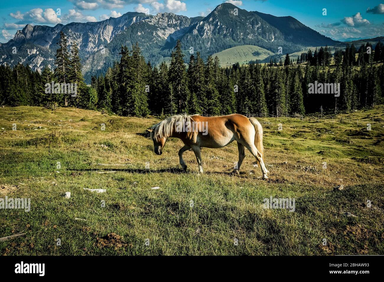
[[[169,139],[161,156],[153,153],[145,136],[158,122],[153,118],[0,108],[0,198],[31,198],[30,212],[0,209],[0,237],[26,233],[0,242],[0,254],[384,254],[383,112],[377,106],[343,115],[343,122],[259,119],[271,172],[263,181],[249,152],[240,175],[230,174],[235,142],[203,148],[202,175],[194,154],[185,152],[183,173],[180,140]],[[341,184],[343,190],[334,189]],[[270,196],[295,198],[295,211],[264,209]]]

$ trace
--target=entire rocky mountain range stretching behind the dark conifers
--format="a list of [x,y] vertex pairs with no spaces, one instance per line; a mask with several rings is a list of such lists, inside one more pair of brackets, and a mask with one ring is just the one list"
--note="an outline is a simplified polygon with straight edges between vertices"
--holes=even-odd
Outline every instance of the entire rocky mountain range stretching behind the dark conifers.
[[[260,12],[248,12],[230,3],[218,5],[206,17],[158,13],[155,16],[128,12],[119,18],[88,23],[68,23],[56,26],[26,25],[15,37],[0,44],[0,64],[13,66],[26,63],[41,71],[45,65],[55,67],[55,54],[63,31],[68,45],[77,41],[83,74],[87,82],[91,76],[104,73],[119,60],[122,45],[139,43],[143,56],[152,65],[169,59],[180,40],[185,61],[190,47],[203,58],[228,48],[253,45],[276,53],[300,51],[306,46],[325,46],[338,43],[303,25],[291,16],[276,17]],[[16,47],[17,53],[12,51]]]

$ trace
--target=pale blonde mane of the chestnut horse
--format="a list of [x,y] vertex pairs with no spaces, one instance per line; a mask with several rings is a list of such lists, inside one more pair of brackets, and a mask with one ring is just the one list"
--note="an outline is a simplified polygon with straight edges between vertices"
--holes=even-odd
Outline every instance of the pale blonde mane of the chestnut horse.
[[155,124],[151,127],[151,139],[156,140],[162,139],[164,137],[169,137],[172,135],[173,130],[175,129],[176,124],[184,124],[187,122],[194,121],[191,115],[187,114],[178,114],[171,115],[166,119],[162,120],[158,124]]

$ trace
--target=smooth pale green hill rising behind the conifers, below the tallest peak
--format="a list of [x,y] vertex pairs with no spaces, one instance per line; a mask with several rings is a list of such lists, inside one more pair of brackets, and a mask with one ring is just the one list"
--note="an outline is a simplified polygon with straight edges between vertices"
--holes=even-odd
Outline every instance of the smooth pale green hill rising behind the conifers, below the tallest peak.
[[263,49],[254,45],[242,45],[229,49],[225,49],[221,52],[212,55],[212,58],[217,56],[220,59],[220,65],[222,67],[232,66],[234,63],[247,64],[252,60],[262,60],[268,56],[273,55],[271,51]]

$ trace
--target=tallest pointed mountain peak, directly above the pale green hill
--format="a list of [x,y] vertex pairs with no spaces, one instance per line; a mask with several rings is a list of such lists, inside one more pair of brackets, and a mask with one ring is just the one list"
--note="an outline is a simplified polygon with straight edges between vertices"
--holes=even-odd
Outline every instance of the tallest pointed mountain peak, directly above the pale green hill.
[[[256,45],[273,51],[283,45],[283,34],[255,13],[230,3],[218,5],[203,20],[180,37],[182,46],[192,46],[203,57],[239,45]],[[294,48],[300,48],[293,43]]]

